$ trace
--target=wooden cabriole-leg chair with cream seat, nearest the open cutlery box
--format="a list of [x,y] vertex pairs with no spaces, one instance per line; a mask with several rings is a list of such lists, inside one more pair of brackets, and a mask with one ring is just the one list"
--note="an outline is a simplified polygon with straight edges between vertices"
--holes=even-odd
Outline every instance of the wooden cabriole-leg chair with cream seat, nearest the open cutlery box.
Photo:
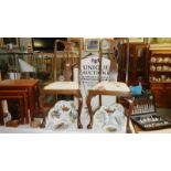
[[[124,104],[125,107],[128,108],[127,110],[127,132],[130,132],[129,128],[129,120],[130,120],[130,115],[132,113],[133,108],[133,100],[131,98],[131,94],[129,90],[129,87],[127,86],[126,83],[117,82],[115,81],[115,74],[117,73],[117,62],[116,62],[116,45],[118,43],[121,43],[124,39],[105,39],[109,42],[110,46],[108,49],[108,55],[110,60],[110,67],[109,67],[109,81],[101,81],[101,58],[103,58],[103,41],[100,40],[99,44],[99,83],[88,89],[88,95],[86,98],[86,104],[89,113],[89,124],[87,126],[88,129],[93,128],[93,116],[94,111],[92,108],[92,98],[95,96],[99,96],[99,106],[101,106],[101,96],[117,96],[118,101]],[[128,42],[129,43],[129,42]],[[117,50],[119,51],[119,50]],[[119,53],[119,52],[118,52]],[[119,57],[119,56],[118,56]],[[127,82],[127,78],[126,78]]]

